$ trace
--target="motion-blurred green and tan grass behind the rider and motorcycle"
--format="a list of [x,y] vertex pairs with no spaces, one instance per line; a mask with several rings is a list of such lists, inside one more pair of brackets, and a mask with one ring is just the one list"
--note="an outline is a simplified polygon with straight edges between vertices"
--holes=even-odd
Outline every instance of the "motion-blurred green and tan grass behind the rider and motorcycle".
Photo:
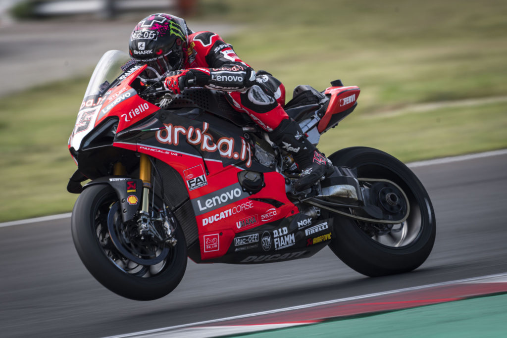
[[[287,100],[299,84],[359,86],[325,154],[364,145],[410,162],[507,147],[506,18],[504,0],[201,0],[187,19],[234,27],[226,42]],[[0,221],[71,211],[67,139],[87,82],[0,98]]]

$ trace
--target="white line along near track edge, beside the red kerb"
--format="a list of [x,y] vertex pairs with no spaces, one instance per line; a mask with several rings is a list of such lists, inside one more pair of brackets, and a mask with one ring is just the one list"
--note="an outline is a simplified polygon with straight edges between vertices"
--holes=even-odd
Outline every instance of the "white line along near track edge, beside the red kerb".
[[325,302],[318,302],[318,303],[311,303],[311,304],[305,304],[305,305],[298,305],[298,306],[293,306],[293,307],[288,307],[288,308],[281,308],[281,309],[276,309],[276,310],[268,310],[268,311],[262,311],[262,312],[256,312],[256,313],[250,313],[250,314],[244,314],[244,315],[238,315],[238,316],[232,316],[232,317],[226,317],[226,318],[205,320],[205,321],[202,321],[202,322],[195,322],[195,323],[190,323],[190,324],[168,326],[168,327],[162,327],[162,328],[158,328],[158,329],[152,329],[152,330],[146,330],[146,331],[139,331],[139,332],[133,332],[133,333],[126,333],[126,334],[108,336],[108,337],[105,337],[105,338],[125,338],[125,337],[140,338],[140,337],[155,337],[155,336],[159,336],[159,337],[162,337],[162,336],[171,336],[172,337],[173,335],[170,335],[170,334],[165,335],[165,333],[170,333],[169,331],[174,332],[174,330],[185,328],[185,327],[192,327],[192,326],[199,326],[199,325],[204,325],[204,324],[218,323],[218,322],[223,322],[223,321],[233,320],[233,319],[243,319],[243,318],[256,317],[256,316],[262,316],[262,315],[270,315],[270,314],[273,314],[273,313],[280,313],[280,312],[286,312],[286,311],[308,309],[308,308],[313,308],[313,307],[322,306],[322,305],[329,305],[329,304],[336,304],[336,303],[355,301],[357,299],[383,296],[383,295],[392,294],[392,293],[415,291],[415,290],[421,290],[421,289],[427,289],[427,288],[439,287],[439,286],[446,286],[446,285],[452,285],[452,284],[481,283],[481,282],[483,282],[483,280],[488,280],[488,279],[490,279],[490,280],[491,279],[492,280],[495,280],[495,279],[503,280],[505,278],[507,278],[507,273],[488,275],[488,276],[481,276],[481,277],[474,277],[474,278],[459,279],[459,280],[450,281],[450,282],[440,282],[440,283],[434,283],[434,284],[428,284],[428,285],[422,285],[422,286],[408,287],[408,288],[404,288],[404,289],[397,289],[397,290],[391,290],[391,291],[376,292],[376,293],[364,294],[364,295],[347,297],[347,298],[333,299],[331,301],[325,301]]

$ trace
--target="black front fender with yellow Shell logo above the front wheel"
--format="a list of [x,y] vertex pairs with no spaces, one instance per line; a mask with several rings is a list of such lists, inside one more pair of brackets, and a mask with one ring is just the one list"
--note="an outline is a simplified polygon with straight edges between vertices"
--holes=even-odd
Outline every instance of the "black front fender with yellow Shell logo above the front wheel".
[[127,176],[104,176],[88,182],[83,189],[95,184],[109,184],[113,187],[120,201],[124,222],[134,217],[141,205],[142,180]]

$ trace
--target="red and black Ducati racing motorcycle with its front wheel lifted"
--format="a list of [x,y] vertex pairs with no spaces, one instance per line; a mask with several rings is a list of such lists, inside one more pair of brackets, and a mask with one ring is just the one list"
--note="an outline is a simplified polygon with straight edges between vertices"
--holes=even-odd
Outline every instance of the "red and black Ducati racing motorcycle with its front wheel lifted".
[[[98,62],[68,148],[78,169],[71,230],[103,286],[157,299],[197,263],[262,264],[329,246],[367,276],[408,272],[428,257],[436,223],[415,174],[374,148],[340,149],[335,173],[293,189],[294,159],[226,94],[175,95],[146,80],[147,65],[108,51]],[[310,142],[348,116],[359,88],[298,86],[284,106]],[[90,180],[84,186],[82,182]]]

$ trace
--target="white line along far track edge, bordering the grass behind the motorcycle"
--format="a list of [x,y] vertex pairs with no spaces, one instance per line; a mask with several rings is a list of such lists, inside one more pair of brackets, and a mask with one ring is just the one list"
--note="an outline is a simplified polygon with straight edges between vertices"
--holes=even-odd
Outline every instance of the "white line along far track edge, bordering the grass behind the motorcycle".
[[[478,154],[445,157],[445,158],[441,158],[441,159],[434,159],[434,160],[427,160],[427,161],[412,162],[412,163],[408,163],[407,166],[410,168],[417,168],[417,167],[424,167],[424,166],[431,166],[431,165],[445,164],[445,163],[452,163],[452,162],[459,162],[459,161],[468,161],[468,160],[480,159],[480,158],[491,157],[491,156],[500,156],[500,155],[507,155],[507,149],[500,149],[500,150],[496,150],[496,151],[478,153]],[[70,215],[71,215],[71,213],[65,213],[65,214],[44,216],[44,217],[37,217],[37,218],[20,219],[20,220],[15,220],[15,221],[11,221],[11,222],[0,223],[0,228],[10,227],[10,226],[19,226],[21,224],[27,224],[27,223],[44,222],[47,220],[62,219],[62,218],[70,217]]]

